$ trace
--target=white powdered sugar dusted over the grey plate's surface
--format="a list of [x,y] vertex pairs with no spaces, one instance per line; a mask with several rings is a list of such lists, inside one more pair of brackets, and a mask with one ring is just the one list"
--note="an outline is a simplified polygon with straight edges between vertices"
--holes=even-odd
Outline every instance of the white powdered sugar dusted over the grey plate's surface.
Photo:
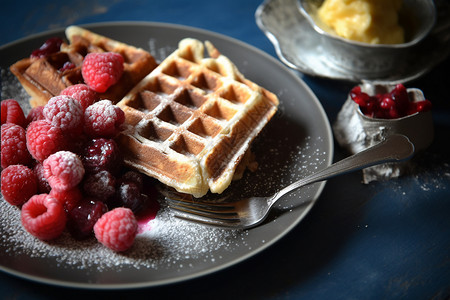
[[[2,70],[2,99],[5,96],[15,98],[26,113],[29,111],[29,97],[14,76]],[[301,134],[302,128],[289,117],[286,118],[285,114],[281,106],[280,112],[253,144],[259,163],[258,171],[246,172],[243,179],[233,183],[221,196],[235,198],[272,194],[325,163],[329,153],[321,149],[327,141]],[[310,188],[302,189],[301,195],[308,194]],[[299,193],[295,192],[294,197]],[[119,254],[98,243],[94,237],[77,241],[68,232],[55,241],[42,242],[22,228],[20,210],[6,203],[2,197],[0,248],[4,255],[12,258],[21,255],[43,258],[54,262],[58,268],[85,270],[86,273],[128,268],[184,272],[195,270],[201,264],[220,264],[229,259],[224,258],[225,253],[248,253],[269,242],[268,237],[263,237],[255,243],[249,231],[207,227],[178,219],[171,214],[163,197],[160,206],[155,219],[148,224],[140,224],[141,231],[134,245]],[[293,204],[282,202],[280,207],[290,211]],[[276,218],[273,222],[277,222]]]

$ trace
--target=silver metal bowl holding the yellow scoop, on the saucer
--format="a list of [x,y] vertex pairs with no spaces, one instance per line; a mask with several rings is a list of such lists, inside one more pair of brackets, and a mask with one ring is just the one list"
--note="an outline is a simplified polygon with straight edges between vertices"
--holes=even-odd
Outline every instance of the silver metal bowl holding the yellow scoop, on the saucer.
[[416,47],[429,34],[436,22],[436,8],[432,0],[404,0],[399,20],[405,30],[405,42],[362,43],[338,36],[315,17],[322,2],[323,0],[297,0],[297,6],[320,35],[321,46],[329,53],[327,59],[335,67],[355,72],[365,78],[376,79],[398,70],[405,61],[411,59]]

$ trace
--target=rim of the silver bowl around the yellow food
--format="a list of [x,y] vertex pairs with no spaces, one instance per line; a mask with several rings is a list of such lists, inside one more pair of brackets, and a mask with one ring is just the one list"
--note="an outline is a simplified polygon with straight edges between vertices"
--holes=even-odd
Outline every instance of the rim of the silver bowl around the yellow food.
[[320,35],[322,35],[324,37],[330,38],[332,40],[340,41],[342,43],[355,45],[355,46],[363,47],[363,48],[404,49],[404,48],[414,46],[414,45],[418,44],[420,41],[422,41],[423,39],[425,39],[425,37],[431,32],[434,25],[436,24],[436,18],[437,18],[436,6],[434,5],[434,1],[432,1],[432,0],[426,1],[428,8],[431,11],[432,18],[431,18],[430,22],[427,23],[427,27],[422,29],[421,33],[419,35],[417,35],[414,39],[412,39],[406,43],[401,43],[401,44],[368,44],[368,43],[345,39],[338,35],[330,34],[327,31],[325,31],[324,29],[322,29],[319,25],[316,24],[316,22],[314,21],[314,18],[311,17],[309,12],[304,7],[303,3],[305,1],[310,1],[310,0],[297,0],[297,8],[317,33],[319,33]]

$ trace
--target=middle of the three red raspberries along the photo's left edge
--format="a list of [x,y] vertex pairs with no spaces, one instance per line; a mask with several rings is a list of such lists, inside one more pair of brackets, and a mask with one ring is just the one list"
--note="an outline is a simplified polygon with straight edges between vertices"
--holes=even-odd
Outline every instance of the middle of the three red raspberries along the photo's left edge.
[[25,129],[13,123],[1,127],[1,166],[27,165],[31,161]]

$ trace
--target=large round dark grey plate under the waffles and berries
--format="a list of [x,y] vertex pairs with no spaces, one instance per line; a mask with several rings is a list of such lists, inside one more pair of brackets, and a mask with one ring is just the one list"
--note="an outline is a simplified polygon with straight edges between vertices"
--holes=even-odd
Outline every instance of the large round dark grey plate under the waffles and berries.
[[[253,144],[259,170],[248,173],[225,193],[228,197],[267,195],[331,163],[332,134],[317,98],[279,61],[240,41],[212,32],[159,23],[100,23],[92,31],[151,51],[158,60],[180,39],[210,40],[245,76],[280,99],[280,109]],[[35,35],[0,48],[2,99],[27,104],[10,64],[29,55],[63,30]],[[134,288],[184,281],[239,263],[274,244],[296,226],[318,199],[324,183],[288,195],[263,225],[244,232],[204,227],[173,218],[161,200],[150,229],[135,246],[115,254],[95,240],[76,242],[68,234],[51,243],[23,231],[19,211],[0,201],[0,269],[43,282],[82,288]]]

